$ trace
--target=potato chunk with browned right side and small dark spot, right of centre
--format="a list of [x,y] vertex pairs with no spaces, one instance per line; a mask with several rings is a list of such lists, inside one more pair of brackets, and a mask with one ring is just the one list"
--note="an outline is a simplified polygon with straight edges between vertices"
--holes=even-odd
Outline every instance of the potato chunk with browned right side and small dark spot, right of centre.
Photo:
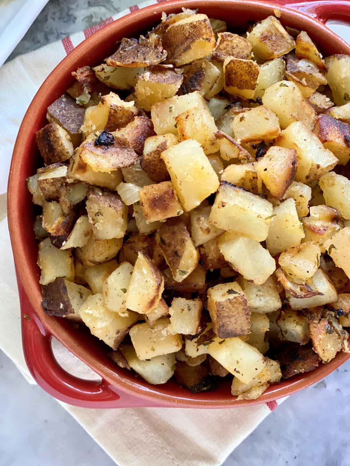
[[298,167],[295,149],[273,146],[258,159],[255,168],[274,198],[281,199],[292,184]]

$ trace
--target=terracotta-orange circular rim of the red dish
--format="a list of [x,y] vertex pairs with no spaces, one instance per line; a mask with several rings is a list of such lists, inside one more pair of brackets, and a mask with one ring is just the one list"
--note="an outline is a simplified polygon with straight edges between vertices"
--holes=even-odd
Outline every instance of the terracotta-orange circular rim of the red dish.
[[[8,224],[10,231],[10,238],[14,252],[14,260],[16,264],[16,269],[18,273],[18,279],[23,284],[23,287],[28,295],[28,299],[35,309],[35,313],[38,316],[38,302],[41,302],[41,291],[37,281],[37,274],[34,272],[33,263],[28,258],[28,248],[25,247],[25,235],[24,232],[21,232],[21,229],[18,228],[18,225],[21,224],[21,199],[22,196],[20,191],[17,190],[18,181],[21,179],[21,158],[23,158],[23,148],[29,144],[29,139],[34,137],[33,134],[33,124],[32,124],[32,115],[36,112],[39,112],[42,109],[42,98],[47,95],[51,89],[54,89],[56,82],[60,79],[60,75],[77,69],[77,62],[81,52],[84,50],[89,50],[93,47],[98,46],[102,38],[107,38],[111,31],[115,31],[120,24],[124,23],[128,27],[133,27],[133,23],[137,23],[137,30],[140,30],[140,25],[142,27],[142,22],[145,21],[146,16],[158,14],[161,15],[162,11],[167,13],[177,11],[181,7],[196,7],[200,11],[205,12],[206,7],[215,7],[223,6],[223,3],[226,5],[239,5],[247,8],[251,8],[252,16],[255,14],[254,9],[263,8],[270,10],[270,14],[273,14],[273,9],[278,7],[285,17],[297,18],[301,21],[302,24],[307,24],[307,27],[303,26],[303,29],[309,31],[311,27],[316,28],[316,30],[322,30],[323,33],[329,35],[333,41],[336,41],[337,46],[346,50],[350,55],[350,45],[347,44],[343,39],[337,36],[335,33],[330,31],[326,26],[321,22],[316,21],[315,19],[309,17],[308,15],[296,11],[288,6],[281,6],[280,4],[273,4],[273,2],[264,2],[264,1],[252,1],[252,0],[169,0],[166,2],[161,2],[158,4],[150,5],[148,7],[141,8],[139,10],[133,11],[126,16],[123,16],[107,26],[103,27],[95,34],[91,35],[89,38],[85,39],[80,43],[69,55],[67,55],[63,60],[56,66],[55,69],[49,74],[46,80],[42,83],[41,87],[35,94],[32,102],[30,103],[28,110],[23,117],[20,130],[14,145],[14,152],[10,166],[10,174],[8,180],[8,191],[7,191],[7,213],[8,213]],[[267,15],[267,14],[266,14]],[[158,17],[157,16],[157,17]],[[154,16],[155,18],[155,16]],[[154,21],[155,22],[155,21]],[[283,17],[282,17],[283,22]],[[309,27],[308,27],[309,26]],[[133,31],[133,29],[132,29]],[[132,33],[133,34],[133,33]],[[85,63],[86,64],[86,63]],[[80,65],[79,65],[80,66]],[[46,110],[45,110],[46,111]],[[24,246],[23,246],[24,245]],[[29,272],[29,273],[28,273]],[[41,305],[39,304],[41,308]],[[38,316],[39,317],[39,316]],[[200,400],[200,399],[191,399],[186,397],[173,397],[171,395],[161,393],[157,389],[154,391],[145,390],[145,387],[138,381],[130,382],[127,381],[123,376],[119,376],[116,373],[114,377],[111,378],[111,374],[108,371],[103,370],[103,367],[98,367],[98,365],[91,364],[89,361],[86,361],[84,355],[81,354],[78,348],[77,342],[69,341],[62,336],[62,329],[59,325],[55,324],[56,319],[48,318],[47,315],[41,315],[40,320],[42,325],[51,335],[55,336],[64,346],[66,346],[73,354],[75,354],[79,359],[88,364],[93,370],[98,372],[101,377],[107,380],[111,385],[116,388],[120,388],[126,393],[136,395],[140,398],[147,398],[154,401],[154,399],[163,402],[163,403],[173,403],[178,405],[179,401],[184,402],[188,407],[238,407],[247,404],[260,404],[266,403],[268,401],[275,400],[279,397],[285,397],[296,391],[306,388],[307,386],[314,384],[319,381],[330,372],[335,370],[339,365],[344,363],[349,357],[350,354],[338,353],[335,359],[330,363],[322,364],[316,370],[308,372],[308,374],[293,377],[293,379],[287,379],[286,382],[271,386],[268,391],[266,391],[260,398],[257,400],[241,400],[237,401],[232,397],[231,402],[227,401],[215,401],[211,400]],[[60,335],[61,332],[61,335]],[[289,380],[289,382],[288,382]],[[117,384],[117,385],[116,385]],[[213,398],[215,398],[215,391],[213,393]],[[231,394],[230,394],[231,396]]]

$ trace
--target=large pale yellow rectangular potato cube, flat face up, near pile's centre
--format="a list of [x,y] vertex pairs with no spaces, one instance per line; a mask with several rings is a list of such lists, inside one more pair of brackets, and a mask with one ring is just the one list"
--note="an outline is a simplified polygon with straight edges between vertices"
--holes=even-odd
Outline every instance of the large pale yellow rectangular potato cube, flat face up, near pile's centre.
[[201,145],[194,139],[182,141],[161,153],[171,181],[185,211],[190,211],[215,192],[217,174]]

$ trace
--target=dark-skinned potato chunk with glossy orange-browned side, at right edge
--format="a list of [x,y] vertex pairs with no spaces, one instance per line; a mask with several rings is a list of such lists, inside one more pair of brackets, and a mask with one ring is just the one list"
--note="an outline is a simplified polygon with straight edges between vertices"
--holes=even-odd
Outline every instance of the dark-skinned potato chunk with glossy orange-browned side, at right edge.
[[339,160],[340,165],[346,165],[350,160],[350,125],[329,115],[319,115],[316,118],[315,135],[320,139],[325,149],[329,149]]

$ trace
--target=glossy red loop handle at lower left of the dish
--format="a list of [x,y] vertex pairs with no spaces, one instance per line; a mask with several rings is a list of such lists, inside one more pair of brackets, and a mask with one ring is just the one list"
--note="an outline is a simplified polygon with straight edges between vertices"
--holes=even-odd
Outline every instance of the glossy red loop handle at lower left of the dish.
[[[145,399],[119,391],[106,383],[84,380],[66,372],[53,355],[51,334],[35,314],[21,282],[18,280],[21,302],[23,352],[28,369],[38,385],[64,403],[89,408],[126,408],[156,406]],[[157,405],[159,406],[159,404]]]

